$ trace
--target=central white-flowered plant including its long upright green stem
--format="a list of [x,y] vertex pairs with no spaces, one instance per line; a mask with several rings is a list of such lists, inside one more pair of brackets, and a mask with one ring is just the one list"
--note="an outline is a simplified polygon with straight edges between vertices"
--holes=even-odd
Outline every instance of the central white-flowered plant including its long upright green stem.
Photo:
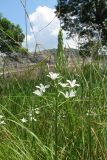
[[[65,99],[71,99],[76,96],[75,87],[79,87],[80,85],[76,83],[76,80],[66,80],[65,83],[61,82],[62,76],[59,73],[49,72],[47,75],[51,80],[53,87],[55,88],[56,95],[55,95],[55,115],[54,115],[54,135],[55,135],[55,160],[58,159],[58,106],[59,101],[58,98],[62,95]],[[51,87],[51,84],[40,84],[36,86],[36,90],[33,92],[36,96],[42,97],[44,96],[47,89]],[[64,90],[64,91],[63,91]]]

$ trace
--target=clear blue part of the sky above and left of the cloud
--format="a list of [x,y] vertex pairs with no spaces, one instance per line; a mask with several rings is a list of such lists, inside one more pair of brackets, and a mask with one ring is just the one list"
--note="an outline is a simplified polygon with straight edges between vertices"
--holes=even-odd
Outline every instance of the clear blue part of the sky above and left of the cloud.
[[[24,0],[22,0],[24,2]],[[27,11],[32,13],[38,6],[54,8],[57,0],[26,0]],[[19,24],[25,31],[24,10],[20,0],[0,0],[0,13],[15,24]]]

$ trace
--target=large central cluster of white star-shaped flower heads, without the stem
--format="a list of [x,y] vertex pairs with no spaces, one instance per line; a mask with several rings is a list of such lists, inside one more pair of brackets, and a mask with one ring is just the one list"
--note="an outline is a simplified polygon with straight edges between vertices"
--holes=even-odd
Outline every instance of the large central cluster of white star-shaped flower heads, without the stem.
[[[47,75],[51,80],[60,80],[61,76],[58,73],[49,72]],[[76,91],[73,90],[74,87],[79,87],[80,85],[76,83],[76,80],[66,80],[66,83],[62,83],[61,81],[58,82],[57,85],[60,85],[62,88],[68,88],[69,90],[65,93],[62,91],[59,91],[59,94],[62,94],[65,98],[72,98],[75,97]],[[38,96],[43,96],[43,93],[46,91],[47,88],[49,88],[50,85],[43,85],[40,84],[40,86],[36,86],[37,90],[35,90],[33,93]]]

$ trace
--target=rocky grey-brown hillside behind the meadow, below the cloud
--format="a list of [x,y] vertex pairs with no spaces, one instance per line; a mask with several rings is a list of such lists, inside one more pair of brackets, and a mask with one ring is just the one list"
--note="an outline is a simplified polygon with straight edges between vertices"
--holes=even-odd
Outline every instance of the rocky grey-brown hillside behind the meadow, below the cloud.
[[[29,64],[34,64],[40,61],[53,64],[54,56],[57,52],[56,49],[47,49],[37,52],[36,54],[31,53],[28,56],[22,55],[21,53],[4,54],[0,53],[0,68],[2,68],[4,62],[5,66],[20,68]],[[79,51],[77,49],[65,49],[66,58],[77,57]]]

